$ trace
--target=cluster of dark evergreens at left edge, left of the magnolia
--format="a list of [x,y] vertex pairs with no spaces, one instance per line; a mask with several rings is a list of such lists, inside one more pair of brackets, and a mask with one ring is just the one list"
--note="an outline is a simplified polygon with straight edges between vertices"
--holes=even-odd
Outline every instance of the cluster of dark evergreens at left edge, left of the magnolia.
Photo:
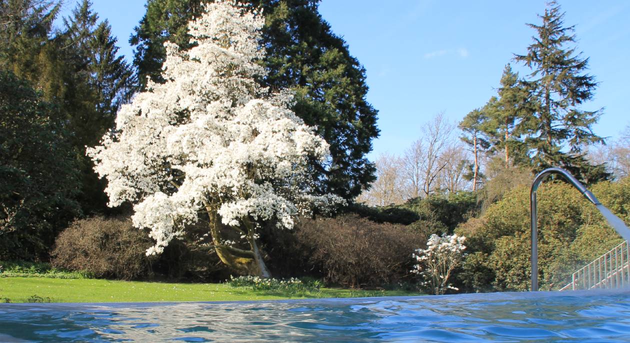
[[86,146],[135,89],[109,23],[88,1],[0,1],[0,258],[47,259],[74,218],[106,208]]

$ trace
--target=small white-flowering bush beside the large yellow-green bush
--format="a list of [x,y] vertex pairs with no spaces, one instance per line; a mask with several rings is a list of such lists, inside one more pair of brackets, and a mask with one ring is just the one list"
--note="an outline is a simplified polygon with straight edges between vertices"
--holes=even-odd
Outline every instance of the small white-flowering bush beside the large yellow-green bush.
[[444,294],[448,289],[454,289],[449,284],[453,270],[462,263],[466,246],[466,237],[442,234],[431,235],[426,249],[418,249],[413,254],[418,264],[412,272],[420,274],[421,286],[433,294]]

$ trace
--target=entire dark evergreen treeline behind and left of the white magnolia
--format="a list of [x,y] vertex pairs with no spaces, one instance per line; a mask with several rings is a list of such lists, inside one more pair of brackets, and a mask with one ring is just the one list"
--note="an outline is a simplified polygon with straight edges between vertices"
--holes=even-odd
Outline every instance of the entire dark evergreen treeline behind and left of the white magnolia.
[[[55,237],[74,219],[129,216],[130,206],[107,207],[106,183],[93,171],[86,147],[113,130],[120,105],[145,90],[149,80],[164,81],[164,42],[190,47],[187,24],[207,2],[147,2],[130,38],[135,46],[130,65],[88,0],[79,1],[67,18],[58,18],[60,1],[0,1],[0,170],[6,176],[0,180],[0,260],[49,260]],[[352,201],[375,180],[366,154],[379,130],[377,111],[365,100],[365,70],[321,18],[318,1],[251,5],[265,16],[261,43],[269,73],[261,84],[270,91],[294,91],[294,112],[330,144],[328,160],[311,161],[312,187]],[[96,230],[96,224],[88,226]],[[182,238],[164,254],[163,269],[197,259],[196,252],[207,254],[207,247],[193,244],[204,233],[207,229]],[[91,236],[106,237],[98,230]]]

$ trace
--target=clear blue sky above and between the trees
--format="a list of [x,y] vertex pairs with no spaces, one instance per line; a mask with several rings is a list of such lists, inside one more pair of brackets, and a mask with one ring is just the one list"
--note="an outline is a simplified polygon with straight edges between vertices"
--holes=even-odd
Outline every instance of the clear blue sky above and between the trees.
[[[400,154],[438,112],[451,120],[481,107],[495,94],[503,66],[525,54],[544,0],[412,1],[323,0],[319,12],[367,71],[367,95],[379,110],[379,153]],[[585,110],[604,107],[595,134],[619,136],[630,124],[630,1],[559,1],[565,24],[576,25],[578,51],[590,57],[600,82]],[[64,15],[74,6],[64,5]],[[129,35],[144,15],[142,0],[93,0],[107,18],[121,53],[132,59]],[[522,74],[527,69],[513,64]]]

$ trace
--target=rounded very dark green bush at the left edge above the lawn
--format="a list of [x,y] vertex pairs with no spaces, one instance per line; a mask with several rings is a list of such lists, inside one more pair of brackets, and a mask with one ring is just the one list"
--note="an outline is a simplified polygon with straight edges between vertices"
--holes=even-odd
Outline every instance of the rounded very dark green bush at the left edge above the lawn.
[[81,212],[76,151],[57,108],[0,71],[0,259],[46,259]]

